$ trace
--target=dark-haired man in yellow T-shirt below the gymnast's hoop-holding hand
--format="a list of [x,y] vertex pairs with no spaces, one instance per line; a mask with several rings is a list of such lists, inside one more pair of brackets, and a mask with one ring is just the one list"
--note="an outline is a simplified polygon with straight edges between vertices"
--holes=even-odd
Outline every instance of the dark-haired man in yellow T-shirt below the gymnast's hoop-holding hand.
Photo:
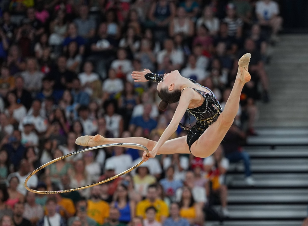
[[146,210],[148,207],[153,206],[156,209],[156,218],[158,222],[164,222],[169,216],[169,209],[167,204],[158,198],[158,192],[156,185],[152,184],[148,187],[147,198],[138,202],[136,207],[136,216],[146,218]]

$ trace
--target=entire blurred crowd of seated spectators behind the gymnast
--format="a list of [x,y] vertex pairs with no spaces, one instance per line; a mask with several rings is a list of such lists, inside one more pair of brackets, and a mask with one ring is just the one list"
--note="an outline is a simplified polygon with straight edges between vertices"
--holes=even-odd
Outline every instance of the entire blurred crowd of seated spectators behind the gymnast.
[[[2,0],[0,7],[0,226],[184,226],[229,216],[229,163],[242,160],[245,182],[255,183],[242,146],[257,135],[256,102],[270,102],[264,65],[282,29],[277,2]],[[156,84],[134,82],[132,71],[177,69],[212,89],[224,107],[246,52],[252,80],[212,156],[159,155],[128,175],[63,194],[24,187],[34,169],[82,149],[79,136],[159,139],[176,104],[161,111]],[[194,120],[187,114],[182,124]],[[179,127],[171,138],[184,135]],[[76,154],[39,171],[28,186],[85,186],[128,169],[141,155],[122,147]]]

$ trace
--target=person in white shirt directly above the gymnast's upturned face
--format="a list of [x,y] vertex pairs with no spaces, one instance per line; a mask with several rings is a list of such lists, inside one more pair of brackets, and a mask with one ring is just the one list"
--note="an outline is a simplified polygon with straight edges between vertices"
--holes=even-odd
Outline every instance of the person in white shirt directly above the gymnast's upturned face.
[[168,55],[174,68],[180,68],[184,63],[184,53],[174,48],[173,40],[166,39],[164,41],[164,49],[157,53],[157,63],[162,64],[164,57]]

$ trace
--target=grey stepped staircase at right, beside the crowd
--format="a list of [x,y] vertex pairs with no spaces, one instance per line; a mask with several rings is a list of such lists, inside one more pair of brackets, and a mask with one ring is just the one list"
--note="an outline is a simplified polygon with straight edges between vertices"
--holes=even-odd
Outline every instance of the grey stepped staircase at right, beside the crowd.
[[245,146],[256,184],[232,164],[230,218],[206,226],[300,226],[308,216],[308,35],[283,35],[266,70],[271,102],[258,103],[258,136]]

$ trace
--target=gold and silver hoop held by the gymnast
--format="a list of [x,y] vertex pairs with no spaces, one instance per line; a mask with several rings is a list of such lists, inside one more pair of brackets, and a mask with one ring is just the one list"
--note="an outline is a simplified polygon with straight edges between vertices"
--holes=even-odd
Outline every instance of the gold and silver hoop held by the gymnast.
[[[136,147],[139,147],[139,148],[142,148],[144,149],[144,151],[147,152],[147,156],[149,155],[149,150],[143,146],[143,145],[140,145],[140,144],[134,144],[134,143],[113,143],[113,144],[104,144],[104,145],[99,145],[99,146],[94,146],[94,147],[89,147],[89,148],[85,148],[85,149],[82,149],[82,150],[77,150],[77,151],[74,151],[72,153],[69,153],[69,154],[66,154],[66,155],[63,155],[59,158],[55,158],[47,163],[45,163],[44,165],[40,166],[39,168],[37,168],[36,170],[34,170],[32,173],[30,173],[29,176],[27,176],[26,180],[25,180],[25,187],[28,191],[31,191],[31,192],[34,192],[34,193],[37,193],[37,194],[45,194],[45,195],[49,195],[49,194],[59,194],[59,193],[65,193],[65,192],[71,192],[71,191],[78,191],[78,190],[82,190],[82,189],[85,189],[85,188],[88,188],[88,187],[93,187],[95,185],[99,185],[99,184],[103,184],[103,183],[106,183],[108,181],[111,181],[113,179],[116,179],[124,174],[127,174],[128,172],[136,169],[138,166],[140,166],[144,161],[140,161],[138,164],[136,164],[135,166],[129,168],[128,170],[122,172],[122,173],[119,173],[115,176],[112,176],[110,178],[107,178],[107,179],[104,179],[102,181],[99,181],[99,182],[95,182],[95,183],[92,183],[92,184],[89,184],[89,185],[86,185],[86,186],[83,186],[83,187],[76,187],[76,188],[70,188],[70,189],[65,189],[65,190],[59,190],[59,191],[37,191],[37,190],[34,190],[34,189],[31,189],[30,187],[27,186],[27,183],[28,183],[28,180],[34,175],[36,174],[37,172],[39,172],[41,169],[45,168],[46,166],[49,166],[51,165],[52,163],[54,162],[58,162],[59,160],[62,160],[64,158],[67,158],[69,156],[72,156],[72,155],[75,155],[75,154],[79,154],[79,153],[83,153],[83,152],[86,152],[86,151],[90,151],[90,150],[95,150],[95,149],[98,149],[98,148],[105,148],[105,147],[114,147],[114,146],[123,146],[125,145],[126,147],[127,146],[131,146],[132,148],[136,148]],[[140,149],[140,150],[142,150]]]

